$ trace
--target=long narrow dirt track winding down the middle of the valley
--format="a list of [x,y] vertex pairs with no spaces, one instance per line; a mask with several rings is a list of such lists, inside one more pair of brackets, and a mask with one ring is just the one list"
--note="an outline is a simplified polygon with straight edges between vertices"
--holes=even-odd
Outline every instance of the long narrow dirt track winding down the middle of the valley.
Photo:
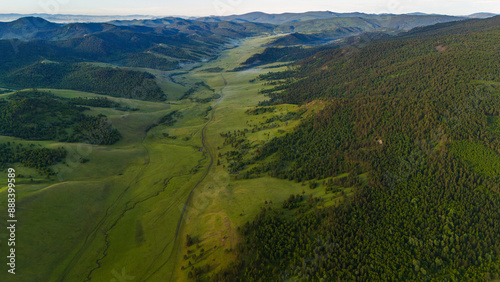
[[[211,111],[211,114],[210,114],[210,120],[203,126],[202,130],[201,130],[201,143],[202,143],[202,146],[203,146],[203,149],[208,153],[209,157],[210,157],[210,162],[208,164],[208,167],[207,169],[205,170],[205,172],[203,173],[203,176],[201,177],[201,179],[193,186],[193,188],[191,188],[191,191],[189,191],[189,195],[188,195],[188,198],[186,200],[186,203],[184,204],[184,207],[182,208],[182,212],[181,212],[181,216],[179,218],[179,222],[177,223],[177,227],[176,227],[176,230],[175,230],[175,237],[174,237],[174,246],[176,244],[179,243],[179,234],[180,234],[180,231],[181,231],[181,227],[182,227],[182,223],[184,221],[184,217],[186,216],[186,210],[188,208],[188,206],[190,205],[191,203],[191,200],[193,198],[193,192],[194,190],[205,180],[205,178],[208,176],[208,174],[210,173],[210,170],[212,169],[212,166],[214,164],[214,154],[213,152],[211,151],[211,147],[210,147],[210,144],[206,141],[206,132],[207,132],[207,127],[208,125],[210,125],[210,123],[212,123],[212,121],[214,120],[214,115],[215,115],[215,109],[217,107],[217,105],[222,101],[222,98],[224,97],[224,93],[223,93],[223,90],[224,88],[227,86],[227,81],[226,81],[226,78],[222,75],[222,73],[220,74],[221,77],[222,77],[222,80],[224,81],[224,86],[221,88],[220,90],[220,95],[221,97],[219,98],[219,100],[214,104],[213,108],[212,108],[212,111]],[[171,242],[169,242],[167,244],[170,245]],[[163,251],[166,249],[166,247],[163,249]],[[162,253],[163,253],[162,251]],[[143,279],[143,281],[147,281],[149,280],[152,276],[154,276],[156,273],[158,273],[159,270],[161,270],[173,257],[173,254],[174,254],[174,251],[172,251],[170,253],[170,256],[158,267],[156,268],[150,275],[148,275],[145,279]],[[161,254],[160,254],[161,255]],[[172,281],[172,278],[174,276],[174,273],[175,273],[175,269],[176,269],[176,265],[174,265],[174,271],[172,271],[171,275],[170,275],[170,278],[168,281]]]

